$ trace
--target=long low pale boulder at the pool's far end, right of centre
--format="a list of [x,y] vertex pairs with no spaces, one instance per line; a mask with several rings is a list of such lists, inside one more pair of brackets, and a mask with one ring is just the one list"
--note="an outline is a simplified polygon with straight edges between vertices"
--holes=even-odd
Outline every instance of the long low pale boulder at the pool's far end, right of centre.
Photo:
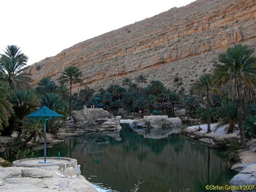
[[134,120],[130,126],[131,127],[143,127],[143,128],[170,128],[171,126],[180,126],[180,118],[168,118],[167,115],[150,115],[144,116],[143,119]]

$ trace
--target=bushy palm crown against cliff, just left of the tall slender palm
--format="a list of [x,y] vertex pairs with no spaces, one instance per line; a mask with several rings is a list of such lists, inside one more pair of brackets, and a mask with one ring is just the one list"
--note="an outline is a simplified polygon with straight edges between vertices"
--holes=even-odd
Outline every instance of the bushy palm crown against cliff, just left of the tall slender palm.
[[58,86],[53,80],[49,77],[44,77],[38,82],[36,90],[38,90],[40,94],[55,93],[57,88]]

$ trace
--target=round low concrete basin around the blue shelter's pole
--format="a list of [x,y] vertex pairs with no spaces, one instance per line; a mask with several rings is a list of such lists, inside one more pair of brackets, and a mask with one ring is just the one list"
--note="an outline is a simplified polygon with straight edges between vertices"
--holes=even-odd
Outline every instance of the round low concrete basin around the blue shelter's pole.
[[59,160],[58,157],[47,157],[46,160],[50,161],[50,163],[39,163],[44,162],[43,157],[16,160],[12,162],[12,167],[30,167],[49,171],[56,171],[68,177],[73,177],[77,174],[76,159],[60,158]]

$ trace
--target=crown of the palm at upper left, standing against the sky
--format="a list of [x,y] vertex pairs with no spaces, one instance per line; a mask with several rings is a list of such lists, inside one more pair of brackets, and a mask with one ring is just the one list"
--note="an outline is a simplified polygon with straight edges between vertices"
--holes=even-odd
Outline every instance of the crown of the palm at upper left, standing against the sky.
[[7,46],[0,58],[0,80],[9,83],[10,88],[30,87],[31,78],[28,74],[21,73],[28,61],[28,56],[21,53],[16,45]]

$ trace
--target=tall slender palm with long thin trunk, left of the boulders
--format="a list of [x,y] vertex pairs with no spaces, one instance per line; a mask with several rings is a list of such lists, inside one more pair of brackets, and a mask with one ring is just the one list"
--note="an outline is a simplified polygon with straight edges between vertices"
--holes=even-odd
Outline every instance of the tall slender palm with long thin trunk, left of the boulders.
[[69,118],[71,118],[72,83],[81,84],[83,80],[80,79],[80,77],[82,77],[82,72],[75,66],[69,66],[68,68],[65,67],[64,71],[62,72],[62,76],[60,76],[61,86],[64,84],[70,84]]

